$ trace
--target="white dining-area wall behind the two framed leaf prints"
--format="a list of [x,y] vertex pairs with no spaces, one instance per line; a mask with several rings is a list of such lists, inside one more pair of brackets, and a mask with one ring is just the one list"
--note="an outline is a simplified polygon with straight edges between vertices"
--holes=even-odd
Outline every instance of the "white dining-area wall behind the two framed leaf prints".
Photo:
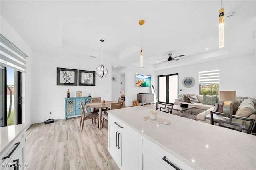
[[[108,69],[108,75],[100,78],[96,75],[96,86],[60,86],[56,85],[57,67],[77,70],[95,71],[101,64],[101,58],[90,58],[91,53],[99,51],[87,51],[83,56],[68,54],[65,51],[47,52],[32,51],[32,123],[43,122],[50,118],[64,119],[65,97],[69,89],[70,97],[76,96],[76,91],[82,91],[82,96],[101,97],[102,100],[111,100],[111,65],[108,55],[103,56],[103,65]],[[97,55],[94,55],[97,56]]]

